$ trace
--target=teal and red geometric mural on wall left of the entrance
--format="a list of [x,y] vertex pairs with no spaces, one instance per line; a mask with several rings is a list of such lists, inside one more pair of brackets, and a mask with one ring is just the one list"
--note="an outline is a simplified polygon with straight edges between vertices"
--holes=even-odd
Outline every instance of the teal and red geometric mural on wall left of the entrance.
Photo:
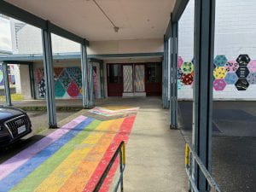
[[[94,72],[94,86],[97,87],[96,70]],[[44,68],[36,69],[38,96],[45,98]],[[55,97],[61,99],[82,98],[82,73],[79,67],[54,67]]]

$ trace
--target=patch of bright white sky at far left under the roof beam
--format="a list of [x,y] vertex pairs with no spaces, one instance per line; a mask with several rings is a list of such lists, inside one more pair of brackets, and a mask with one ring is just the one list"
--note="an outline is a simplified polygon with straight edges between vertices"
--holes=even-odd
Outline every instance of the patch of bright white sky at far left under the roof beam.
[[0,49],[12,50],[9,20],[0,17]]

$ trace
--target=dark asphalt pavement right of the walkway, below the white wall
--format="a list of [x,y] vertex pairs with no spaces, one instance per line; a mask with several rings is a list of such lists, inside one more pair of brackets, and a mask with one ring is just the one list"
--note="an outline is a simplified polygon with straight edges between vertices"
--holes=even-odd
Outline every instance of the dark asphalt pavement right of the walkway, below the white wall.
[[[178,102],[191,141],[192,102]],[[256,191],[256,102],[214,102],[212,175],[224,192]]]

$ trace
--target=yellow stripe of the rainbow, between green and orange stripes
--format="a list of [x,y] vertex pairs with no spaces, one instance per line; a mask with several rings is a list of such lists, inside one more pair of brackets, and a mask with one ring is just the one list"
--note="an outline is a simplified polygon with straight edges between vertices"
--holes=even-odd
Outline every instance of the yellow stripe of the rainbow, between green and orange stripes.
[[34,191],[57,192],[61,188],[61,186],[67,181],[67,179],[73,174],[73,172],[76,171],[81,161],[84,160],[85,155],[90,152],[90,150],[102,137],[104,131],[108,130],[108,127],[112,123],[113,120],[108,120],[98,125],[96,127],[96,130],[92,131],[82,143],[77,145],[73,152],[61,162],[61,165],[57,166],[55,171],[52,172],[49,177],[47,177],[44,182],[41,183]]

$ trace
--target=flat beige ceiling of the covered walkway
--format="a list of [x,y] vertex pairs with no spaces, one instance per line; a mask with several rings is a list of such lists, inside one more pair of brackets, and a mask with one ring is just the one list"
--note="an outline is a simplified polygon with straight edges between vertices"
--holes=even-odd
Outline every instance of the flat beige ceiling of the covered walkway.
[[6,0],[89,41],[163,38],[176,0]]

